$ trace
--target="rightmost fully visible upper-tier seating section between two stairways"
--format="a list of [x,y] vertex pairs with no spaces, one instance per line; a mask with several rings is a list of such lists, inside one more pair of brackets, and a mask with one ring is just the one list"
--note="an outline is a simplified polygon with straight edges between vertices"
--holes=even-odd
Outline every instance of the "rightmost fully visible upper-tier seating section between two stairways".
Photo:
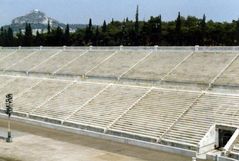
[[209,84],[235,55],[234,53],[194,53],[165,80]]

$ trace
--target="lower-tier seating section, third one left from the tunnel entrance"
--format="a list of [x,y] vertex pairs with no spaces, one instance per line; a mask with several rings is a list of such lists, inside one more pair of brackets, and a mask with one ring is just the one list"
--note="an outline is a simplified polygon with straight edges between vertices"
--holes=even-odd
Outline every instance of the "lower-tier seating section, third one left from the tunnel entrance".
[[146,89],[110,85],[92,101],[67,118],[67,121],[104,130],[145,92]]

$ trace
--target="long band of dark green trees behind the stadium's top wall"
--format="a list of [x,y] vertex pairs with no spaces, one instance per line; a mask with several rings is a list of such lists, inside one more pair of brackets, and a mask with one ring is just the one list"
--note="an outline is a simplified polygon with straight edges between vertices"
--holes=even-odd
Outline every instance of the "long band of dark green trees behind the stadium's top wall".
[[11,28],[0,29],[0,46],[32,46],[32,45],[239,45],[239,19],[232,22],[214,22],[206,20],[206,16],[197,18],[177,15],[173,21],[162,21],[161,15],[151,16],[148,21],[139,20],[139,6],[135,19],[125,18],[123,21],[112,19],[104,21],[102,26],[89,24],[70,33],[66,28],[53,28],[48,21],[47,31],[32,34],[30,24],[26,24],[25,32],[17,34]]

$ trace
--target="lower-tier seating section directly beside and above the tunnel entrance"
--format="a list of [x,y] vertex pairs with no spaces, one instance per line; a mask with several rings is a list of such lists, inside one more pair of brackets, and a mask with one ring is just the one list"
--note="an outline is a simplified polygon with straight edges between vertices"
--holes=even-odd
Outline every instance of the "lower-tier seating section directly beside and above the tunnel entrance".
[[203,94],[164,138],[196,146],[215,123],[239,126],[238,98]]

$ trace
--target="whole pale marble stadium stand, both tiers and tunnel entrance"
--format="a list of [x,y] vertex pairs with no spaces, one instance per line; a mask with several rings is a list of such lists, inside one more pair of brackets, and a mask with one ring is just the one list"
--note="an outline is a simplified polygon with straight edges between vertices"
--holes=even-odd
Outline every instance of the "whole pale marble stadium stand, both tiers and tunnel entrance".
[[185,155],[239,159],[239,47],[2,47],[1,118]]

